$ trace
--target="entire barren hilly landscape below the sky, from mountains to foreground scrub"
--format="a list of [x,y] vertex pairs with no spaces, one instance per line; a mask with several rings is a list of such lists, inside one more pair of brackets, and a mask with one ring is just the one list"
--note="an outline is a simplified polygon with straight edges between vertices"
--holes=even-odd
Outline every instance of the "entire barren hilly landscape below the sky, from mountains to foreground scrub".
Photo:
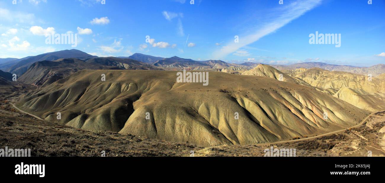
[[[13,128],[23,127],[35,133],[44,126],[69,136],[89,134],[103,145],[96,148],[91,140],[79,146],[79,139],[61,154],[54,153],[62,147],[56,144],[57,150],[40,149],[35,155],[97,156],[107,146],[114,147],[109,148],[113,156],[189,156],[191,150],[195,156],[263,156],[269,145],[295,147],[298,156],[364,156],[365,150],[384,155],[382,74],[368,79],[357,72],[304,65],[229,64],[144,54],[63,57],[30,63],[17,81],[10,79],[12,73],[2,72],[1,106],[3,119],[8,119],[4,123],[19,121],[3,131],[15,135]],[[208,72],[208,85],[178,82],[177,73],[183,70]],[[95,137],[95,132],[104,135]],[[37,137],[48,140],[43,134]],[[121,145],[104,138],[119,139],[114,141]],[[149,145],[163,150],[134,153],[142,142],[147,150],[152,149]],[[132,149],[122,152],[117,147]]]

